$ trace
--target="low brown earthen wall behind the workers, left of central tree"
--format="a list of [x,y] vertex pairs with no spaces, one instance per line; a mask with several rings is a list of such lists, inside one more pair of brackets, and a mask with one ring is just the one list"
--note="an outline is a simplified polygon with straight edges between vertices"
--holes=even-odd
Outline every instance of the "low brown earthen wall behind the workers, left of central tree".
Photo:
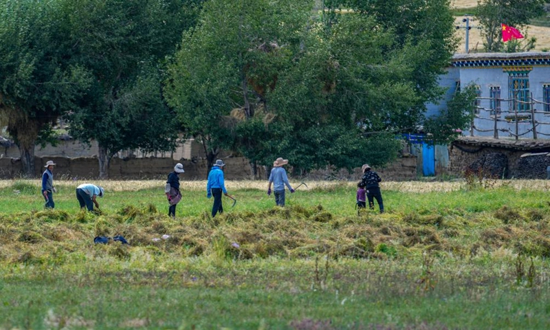
[[[95,157],[34,157],[36,172],[40,177],[46,162],[56,163],[54,175],[56,178],[71,179],[74,177],[95,179],[99,176],[98,159]],[[109,166],[111,179],[159,179],[170,173],[175,164],[171,158],[113,158]],[[186,179],[206,179],[208,171],[206,160],[192,162],[179,161],[184,165]],[[252,171],[248,160],[243,157],[224,158],[225,177],[227,179],[250,179]],[[0,178],[12,179],[21,175],[21,159],[0,158]],[[259,177],[265,177],[263,168],[259,168]]]

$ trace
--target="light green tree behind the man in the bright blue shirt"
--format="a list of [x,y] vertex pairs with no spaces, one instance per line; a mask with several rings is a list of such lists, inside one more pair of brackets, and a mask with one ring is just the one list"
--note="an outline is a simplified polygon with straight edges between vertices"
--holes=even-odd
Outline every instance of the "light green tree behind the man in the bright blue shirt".
[[[267,92],[292,61],[296,32],[305,28],[310,5],[307,0],[212,0],[197,28],[184,35],[166,97],[188,133],[203,142],[209,165],[222,145],[256,164],[259,140],[239,134],[249,130],[238,127],[270,111]],[[226,132],[234,133],[229,143]]]

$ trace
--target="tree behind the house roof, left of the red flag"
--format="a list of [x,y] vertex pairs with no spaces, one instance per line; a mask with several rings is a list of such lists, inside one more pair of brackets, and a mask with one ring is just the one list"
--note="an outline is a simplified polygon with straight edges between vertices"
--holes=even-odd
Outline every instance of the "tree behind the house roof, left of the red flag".
[[[525,30],[525,25],[535,17],[544,14],[544,0],[480,0],[476,8],[476,19],[483,27],[481,36],[487,52],[505,50],[502,41],[501,24]],[[527,38],[526,38],[527,40]],[[530,45],[529,45],[530,44]],[[516,45],[517,46],[517,45]],[[527,49],[534,47],[532,39],[527,40]],[[510,51],[522,47],[509,48]],[[532,49],[532,48],[531,48]]]

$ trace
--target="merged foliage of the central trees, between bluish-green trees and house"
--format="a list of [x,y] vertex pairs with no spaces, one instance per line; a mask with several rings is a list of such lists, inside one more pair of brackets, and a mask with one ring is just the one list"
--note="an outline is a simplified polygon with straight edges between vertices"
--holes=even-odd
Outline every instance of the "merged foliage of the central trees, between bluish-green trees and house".
[[283,155],[300,172],[382,165],[422,124],[456,46],[449,1],[325,3],[311,17],[309,1],[208,1],[166,97],[210,152],[229,140],[252,164]]

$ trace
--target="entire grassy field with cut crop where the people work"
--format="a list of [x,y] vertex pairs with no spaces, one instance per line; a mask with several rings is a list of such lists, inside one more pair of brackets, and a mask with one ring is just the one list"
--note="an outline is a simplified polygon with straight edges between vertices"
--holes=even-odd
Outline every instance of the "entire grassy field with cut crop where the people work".
[[358,214],[353,183],[282,209],[229,181],[214,219],[204,182],[176,219],[162,181],[100,182],[100,216],[56,184],[43,210],[38,181],[0,181],[0,329],[550,327],[546,181],[384,183],[385,214]]

